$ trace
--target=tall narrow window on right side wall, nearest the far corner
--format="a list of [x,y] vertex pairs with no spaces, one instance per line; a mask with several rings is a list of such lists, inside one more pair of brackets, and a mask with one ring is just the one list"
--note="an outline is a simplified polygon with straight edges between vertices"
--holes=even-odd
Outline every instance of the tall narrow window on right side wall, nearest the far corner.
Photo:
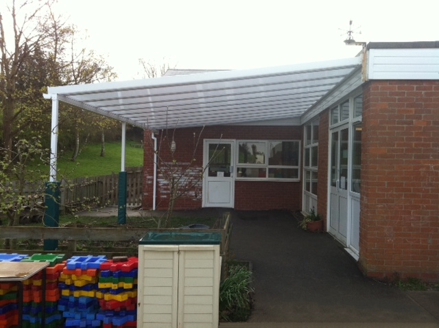
[[318,125],[319,121],[316,119],[305,126],[305,158],[303,159],[305,198],[306,194],[317,196]]

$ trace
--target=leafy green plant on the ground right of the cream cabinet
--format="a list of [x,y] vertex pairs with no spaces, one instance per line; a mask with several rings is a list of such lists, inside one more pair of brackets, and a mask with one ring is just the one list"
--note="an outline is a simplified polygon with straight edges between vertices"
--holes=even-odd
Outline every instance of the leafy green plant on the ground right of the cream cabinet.
[[246,266],[233,263],[228,273],[219,285],[219,316],[224,321],[246,321],[252,309],[252,272]]

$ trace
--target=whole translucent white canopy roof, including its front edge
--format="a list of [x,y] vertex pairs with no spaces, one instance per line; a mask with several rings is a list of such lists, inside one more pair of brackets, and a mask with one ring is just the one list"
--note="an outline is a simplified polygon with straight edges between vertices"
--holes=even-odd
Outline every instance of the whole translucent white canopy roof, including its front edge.
[[341,84],[361,58],[303,65],[53,86],[48,93],[150,130],[300,117]]

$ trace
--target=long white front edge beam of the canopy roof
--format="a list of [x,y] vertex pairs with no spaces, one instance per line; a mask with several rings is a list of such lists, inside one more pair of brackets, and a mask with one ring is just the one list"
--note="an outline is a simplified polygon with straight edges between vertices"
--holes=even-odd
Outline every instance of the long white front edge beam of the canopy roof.
[[241,80],[245,78],[257,78],[263,76],[283,75],[287,73],[318,71],[337,67],[351,67],[361,64],[361,58],[345,58],[327,60],[324,62],[311,62],[297,65],[279,67],[267,67],[262,69],[242,69],[234,71],[218,71],[203,74],[176,75],[162,78],[145,80],[130,80],[118,82],[103,82],[93,84],[78,84],[69,86],[49,86],[48,93],[74,94],[74,93],[98,93],[108,91],[123,91],[129,89],[144,89],[160,86],[178,86],[184,84],[202,84],[206,82],[222,80]]

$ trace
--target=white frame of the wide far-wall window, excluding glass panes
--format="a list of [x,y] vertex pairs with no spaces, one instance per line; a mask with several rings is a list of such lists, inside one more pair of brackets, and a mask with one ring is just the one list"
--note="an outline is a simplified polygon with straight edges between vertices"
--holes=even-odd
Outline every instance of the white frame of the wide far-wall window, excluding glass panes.
[[[270,159],[270,145],[272,143],[283,143],[283,142],[294,142],[297,143],[298,147],[298,160],[297,165],[270,165],[269,159]],[[239,163],[239,145],[241,143],[265,143],[265,159],[264,163]],[[235,179],[240,181],[278,181],[278,182],[298,182],[300,181],[300,154],[301,154],[301,143],[300,140],[295,139],[288,139],[288,140],[263,140],[263,139],[238,139],[236,141],[236,156],[235,156]],[[259,177],[245,177],[240,176],[239,169],[242,168],[259,168],[259,169],[265,169],[265,176],[259,176]],[[270,177],[270,169],[296,169],[297,171],[297,178],[275,178]]]

